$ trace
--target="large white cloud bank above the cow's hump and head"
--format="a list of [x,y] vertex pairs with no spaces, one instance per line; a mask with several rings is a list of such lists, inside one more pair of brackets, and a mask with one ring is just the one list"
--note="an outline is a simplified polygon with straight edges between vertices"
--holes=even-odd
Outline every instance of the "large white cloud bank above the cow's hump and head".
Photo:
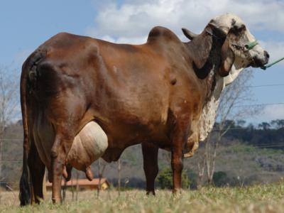
[[107,35],[125,42],[145,42],[150,29],[158,25],[178,35],[181,35],[181,27],[198,33],[211,18],[226,12],[241,16],[249,28],[284,31],[284,3],[277,0],[126,0],[122,5],[116,1],[95,5],[99,8],[95,27],[87,28],[87,35],[97,38]]

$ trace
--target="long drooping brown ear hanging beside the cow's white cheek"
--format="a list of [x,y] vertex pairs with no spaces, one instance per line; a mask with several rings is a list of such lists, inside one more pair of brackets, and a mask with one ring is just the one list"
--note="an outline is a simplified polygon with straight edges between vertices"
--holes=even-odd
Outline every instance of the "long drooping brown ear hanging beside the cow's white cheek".
[[233,50],[231,50],[230,47],[230,42],[231,42],[230,37],[231,36],[227,36],[224,44],[222,45],[222,50],[221,50],[222,64],[219,69],[219,75],[221,77],[226,77],[227,75],[229,75],[229,72],[235,60],[234,52]]

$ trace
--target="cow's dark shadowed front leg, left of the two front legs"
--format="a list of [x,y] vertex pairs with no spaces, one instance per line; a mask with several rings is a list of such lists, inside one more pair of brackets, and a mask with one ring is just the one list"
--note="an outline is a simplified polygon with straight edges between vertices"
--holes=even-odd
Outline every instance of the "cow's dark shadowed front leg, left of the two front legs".
[[155,178],[158,175],[158,146],[142,143],[143,168],[146,176],[146,193],[155,195]]

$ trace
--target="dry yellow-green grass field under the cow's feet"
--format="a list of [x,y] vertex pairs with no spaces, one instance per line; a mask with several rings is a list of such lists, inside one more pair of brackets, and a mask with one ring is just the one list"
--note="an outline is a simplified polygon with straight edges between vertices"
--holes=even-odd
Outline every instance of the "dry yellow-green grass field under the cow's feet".
[[185,190],[173,196],[157,190],[147,197],[143,190],[118,192],[79,192],[72,201],[71,192],[62,205],[53,205],[50,194],[45,202],[33,207],[18,207],[18,192],[2,192],[0,212],[284,212],[284,182],[252,187]]

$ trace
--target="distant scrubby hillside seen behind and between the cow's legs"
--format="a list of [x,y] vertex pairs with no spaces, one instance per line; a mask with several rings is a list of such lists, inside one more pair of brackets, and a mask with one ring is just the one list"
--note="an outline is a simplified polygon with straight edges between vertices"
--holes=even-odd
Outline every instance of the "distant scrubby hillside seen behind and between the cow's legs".
[[[217,174],[221,175],[223,179],[225,177],[223,182],[227,182],[229,185],[238,182],[239,184],[250,185],[255,182],[273,182],[283,178],[284,126],[282,124],[284,122],[282,123],[282,121],[261,123],[258,126],[249,124],[230,127],[230,130],[222,138],[217,151],[216,172],[219,172]],[[4,138],[1,140],[1,182],[8,182],[13,188],[18,187],[18,180],[21,175],[22,129],[21,122],[8,126]],[[192,158],[184,160],[184,168],[192,179],[197,178],[197,163],[202,158],[203,153],[204,143],[200,143],[197,153]],[[101,168],[102,165],[104,165],[103,160],[101,161]],[[170,153],[160,150],[160,170],[169,167]],[[92,164],[92,171],[97,177],[98,162]],[[75,170],[73,170],[72,175],[75,175]],[[83,178],[84,173],[80,172],[80,176]],[[117,163],[107,163],[103,176],[113,185],[116,185]],[[126,148],[121,156],[121,185],[144,187],[144,182],[141,145]]]

